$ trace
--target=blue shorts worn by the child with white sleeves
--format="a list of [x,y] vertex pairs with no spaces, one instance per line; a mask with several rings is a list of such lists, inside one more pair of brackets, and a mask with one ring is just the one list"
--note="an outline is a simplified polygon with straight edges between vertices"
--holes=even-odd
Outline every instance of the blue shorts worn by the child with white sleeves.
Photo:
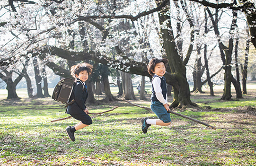
[[170,114],[165,109],[164,105],[159,101],[151,101],[151,110],[158,116],[164,123],[172,122]]

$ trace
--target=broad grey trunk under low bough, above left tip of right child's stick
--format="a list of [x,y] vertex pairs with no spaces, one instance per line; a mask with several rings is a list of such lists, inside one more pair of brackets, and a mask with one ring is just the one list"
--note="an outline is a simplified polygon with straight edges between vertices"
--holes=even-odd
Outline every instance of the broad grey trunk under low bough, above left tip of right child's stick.
[[136,100],[134,95],[133,87],[132,87],[132,77],[130,73],[121,72],[122,76],[122,85],[124,89],[124,93],[121,98],[125,100]]

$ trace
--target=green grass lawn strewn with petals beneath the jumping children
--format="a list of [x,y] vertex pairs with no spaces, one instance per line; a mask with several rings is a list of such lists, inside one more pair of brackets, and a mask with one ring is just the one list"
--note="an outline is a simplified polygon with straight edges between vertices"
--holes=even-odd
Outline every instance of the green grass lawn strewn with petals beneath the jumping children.
[[[192,95],[192,98],[196,95]],[[67,119],[63,105],[51,98],[0,100],[0,166],[255,166],[256,99],[200,102],[212,109],[175,110],[213,125],[171,114],[167,127],[141,131],[141,118],[157,118],[150,111],[124,102],[88,105],[93,124],[68,139],[64,129],[78,121]],[[132,101],[150,106],[149,101]]]

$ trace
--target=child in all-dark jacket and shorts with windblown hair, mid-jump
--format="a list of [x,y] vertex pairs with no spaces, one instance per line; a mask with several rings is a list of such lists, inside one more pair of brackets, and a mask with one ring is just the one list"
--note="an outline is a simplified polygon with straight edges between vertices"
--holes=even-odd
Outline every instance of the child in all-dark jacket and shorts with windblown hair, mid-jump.
[[66,132],[72,141],[75,141],[75,131],[92,124],[91,117],[88,115],[88,109],[84,104],[88,97],[85,81],[91,74],[92,68],[93,66],[88,63],[81,63],[71,67],[71,76],[76,79],[76,82],[71,93],[70,101],[75,99],[75,102],[67,107],[66,113],[80,121],[76,125],[66,128]]

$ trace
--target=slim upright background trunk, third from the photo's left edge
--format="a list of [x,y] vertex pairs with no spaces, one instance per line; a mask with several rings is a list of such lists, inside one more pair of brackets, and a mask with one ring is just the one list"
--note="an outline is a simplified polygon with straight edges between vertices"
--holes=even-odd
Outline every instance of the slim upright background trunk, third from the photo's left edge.
[[41,85],[42,77],[40,75],[37,57],[33,58],[33,64],[34,64],[34,71],[35,71],[35,84],[36,84],[36,88],[37,88],[36,97],[44,97],[43,91],[42,91],[42,85]]

